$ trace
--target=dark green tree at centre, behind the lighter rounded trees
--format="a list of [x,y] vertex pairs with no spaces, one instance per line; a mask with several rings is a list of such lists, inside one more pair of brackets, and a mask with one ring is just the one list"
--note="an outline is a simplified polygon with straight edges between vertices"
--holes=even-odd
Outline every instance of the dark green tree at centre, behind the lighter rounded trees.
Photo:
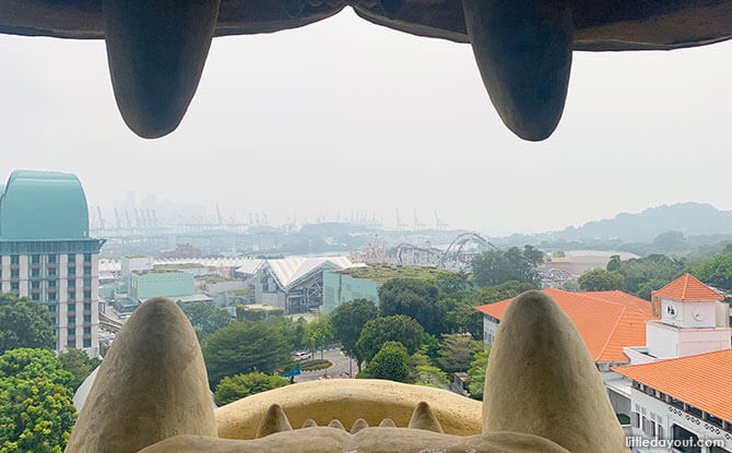
[[448,332],[447,299],[440,299],[434,281],[392,278],[379,288],[379,312],[382,317],[404,314],[433,335]]

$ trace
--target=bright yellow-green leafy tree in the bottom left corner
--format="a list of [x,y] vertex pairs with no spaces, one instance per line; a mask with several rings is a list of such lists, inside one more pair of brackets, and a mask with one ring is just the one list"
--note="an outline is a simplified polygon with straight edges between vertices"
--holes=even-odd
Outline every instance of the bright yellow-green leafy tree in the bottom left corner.
[[61,453],[76,420],[72,397],[47,377],[0,379],[0,453]]

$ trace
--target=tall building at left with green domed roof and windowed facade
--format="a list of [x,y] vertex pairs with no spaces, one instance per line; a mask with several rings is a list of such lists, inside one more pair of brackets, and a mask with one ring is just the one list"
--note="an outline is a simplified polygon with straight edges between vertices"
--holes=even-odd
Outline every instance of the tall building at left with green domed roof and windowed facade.
[[98,257],[74,175],[15,170],[0,186],[0,281],[3,293],[49,311],[56,349],[99,355]]

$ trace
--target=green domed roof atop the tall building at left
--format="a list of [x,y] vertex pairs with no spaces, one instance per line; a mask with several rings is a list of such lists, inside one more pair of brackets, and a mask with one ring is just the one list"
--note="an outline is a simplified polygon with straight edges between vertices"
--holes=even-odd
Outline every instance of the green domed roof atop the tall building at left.
[[74,175],[29,170],[10,175],[0,196],[0,239],[86,237],[86,196]]

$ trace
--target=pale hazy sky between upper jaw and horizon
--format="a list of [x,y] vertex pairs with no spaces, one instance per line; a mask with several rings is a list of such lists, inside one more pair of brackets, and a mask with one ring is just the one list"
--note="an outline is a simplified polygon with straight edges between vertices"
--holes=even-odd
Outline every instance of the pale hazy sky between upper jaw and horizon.
[[[394,207],[488,235],[559,229],[681,201],[732,210],[732,43],[575,52],[564,118],[523,142],[496,115],[469,45],[344,10],[214,39],[173,134],[130,132],[104,43],[0,35],[0,179],[76,174],[91,206],[138,198],[280,223]],[[370,214],[369,214],[370,216]]]

